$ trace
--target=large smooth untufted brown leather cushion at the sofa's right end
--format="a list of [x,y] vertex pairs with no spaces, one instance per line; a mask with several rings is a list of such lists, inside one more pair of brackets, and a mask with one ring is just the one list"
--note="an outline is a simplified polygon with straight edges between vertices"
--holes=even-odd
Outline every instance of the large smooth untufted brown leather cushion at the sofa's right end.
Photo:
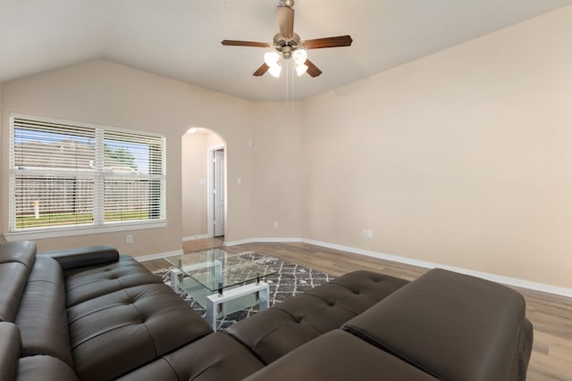
[[[400,288],[344,328],[442,379],[524,379],[532,350],[520,294],[443,269]],[[514,366],[521,362],[525,369]]]

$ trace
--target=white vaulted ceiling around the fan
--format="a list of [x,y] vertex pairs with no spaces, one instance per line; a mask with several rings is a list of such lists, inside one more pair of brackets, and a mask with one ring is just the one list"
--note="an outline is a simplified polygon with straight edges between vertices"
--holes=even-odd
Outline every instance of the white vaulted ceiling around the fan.
[[[315,49],[324,73],[253,77],[272,42],[278,0],[0,0],[0,82],[105,58],[249,100],[305,99],[572,0],[296,0],[304,39],[349,34],[349,47]],[[290,93],[291,94],[291,93]],[[291,96],[291,95],[290,95]]]

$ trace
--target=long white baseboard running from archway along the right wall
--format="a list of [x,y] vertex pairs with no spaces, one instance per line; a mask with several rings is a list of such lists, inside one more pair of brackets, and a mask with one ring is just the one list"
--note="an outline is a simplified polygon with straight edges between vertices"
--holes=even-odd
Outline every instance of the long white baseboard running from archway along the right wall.
[[448,269],[450,271],[455,271],[455,272],[470,275],[473,277],[482,277],[484,279],[491,280],[492,282],[497,282],[497,283],[501,283],[504,285],[517,286],[517,287],[527,288],[527,289],[531,289],[531,290],[542,291],[543,293],[557,294],[557,295],[572,297],[572,288],[551,286],[551,285],[546,285],[544,283],[532,282],[532,281],[529,281],[526,279],[519,279],[517,277],[504,277],[501,275],[492,274],[492,273],[483,272],[483,271],[475,271],[475,270],[471,270],[471,269],[462,269],[462,268],[458,268],[458,267],[454,267],[454,266],[443,265],[442,263],[418,261],[418,260],[413,260],[410,258],[400,257],[397,255],[377,253],[377,252],[373,252],[370,250],[358,249],[357,247],[344,246],[341,244],[330,244],[328,242],[315,241],[313,239],[307,239],[307,238],[248,238],[248,239],[241,239],[241,240],[237,240],[237,241],[226,242],[225,245],[226,246],[235,246],[237,244],[251,244],[251,243],[255,243],[255,242],[302,242],[304,244],[315,244],[316,246],[327,247],[329,249],[334,249],[334,250],[341,250],[342,252],[366,255],[368,257],[374,257],[374,258],[379,258],[379,259],[386,260],[386,261],[394,261],[394,262],[404,263],[404,264],[408,264],[408,265],[412,265],[412,266],[422,267],[425,269],[434,269],[434,268]]

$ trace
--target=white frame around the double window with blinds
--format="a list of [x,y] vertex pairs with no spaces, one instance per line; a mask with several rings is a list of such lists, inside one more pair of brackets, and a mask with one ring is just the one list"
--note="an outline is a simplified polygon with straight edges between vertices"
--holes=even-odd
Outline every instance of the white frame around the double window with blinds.
[[[93,129],[95,134],[104,134],[105,132],[113,134],[126,134],[139,137],[153,137],[159,142],[158,147],[161,152],[157,154],[156,158],[160,158],[161,162],[157,165],[157,168],[161,170],[158,177],[160,181],[160,195],[159,202],[152,205],[149,203],[149,207],[157,207],[159,210],[159,217],[157,219],[130,219],[127,221],[107,221],[103,219],[97,219],[96,215],[104,214],[104,200],[105,194],[103,190],[101,192],[96,191],[95,185],[93,190],[93,223],[85,225],[66,225],[62,227],[52,226],[52,227],[42,227],[42,228],[15,228],[15,211],[16,211],[16,185],[15,178],[18,175],[18,170],[14,167],[15,163],[15,123],[17,119],[23,120],[34,120],[40,123],[50,123],[50,124],[61,124],[65,126],[72,126],[77,128],[89,128]],[[7,241],[16,241],[23,239],[43,239],[43,238],[54,238],[63,236],[82,236],[90,234],[104,234],[104,233],[114,233],[120,231],[129,230],[139,230],[148,228],[165,228],[168,226],[168,220],[166,219],[166,137],[162,134],[152,133],[143,130],[135,130],[128,128],[116,128],[110,126],[103,126],[91,123],[84,123],[79,121],[71,120],[57,120],[51,118],[38,117],[35,115],[10,113],[9,117],[9,157],[8,157],[8,181],[7,181],[7,194],[8,194],[8,232],[4,233],[4,237]],[[101,147],[98,148],[103,150],[105,144],[102,143]],[[100,157],[103,157],[103,152],[100,153]],[[103,160],[103,159],[102,159]],[[57,172],[57,169],[54,170]],[[96,170],[94,172],[94,178],[100,178],[103,181],[106,178],[105,170],[103,170],[103,164],[101,165],[101,170]],[[46,174],[49,176],[49,171],[46,170]],[[148,175],[147,175],[148,176]],[[135,177],[133,177],[135,178]],[[143,178],[143,177],[142,177]],[[4,187],[4,190],[6,188]],[[97,198],[99,197],[101,198]]]

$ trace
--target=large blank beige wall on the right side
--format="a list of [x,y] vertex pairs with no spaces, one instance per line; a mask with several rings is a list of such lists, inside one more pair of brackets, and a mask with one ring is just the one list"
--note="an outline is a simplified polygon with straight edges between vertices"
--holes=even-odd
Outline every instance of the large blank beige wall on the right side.
[[568,7],[305,102],[303,235],[572,287],[571,40]]

